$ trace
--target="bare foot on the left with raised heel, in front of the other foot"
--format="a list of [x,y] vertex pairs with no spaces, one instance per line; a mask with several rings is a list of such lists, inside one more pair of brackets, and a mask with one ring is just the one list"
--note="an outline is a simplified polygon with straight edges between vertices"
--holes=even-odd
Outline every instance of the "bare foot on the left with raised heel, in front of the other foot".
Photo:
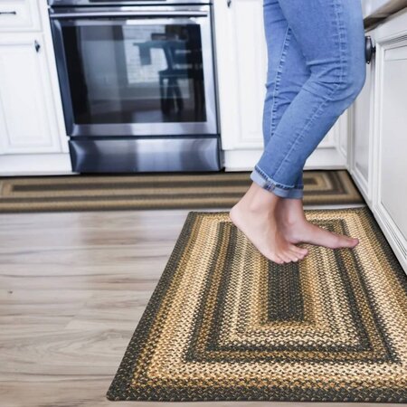
[[247,193],[232,207],[229,216],[261,254],[283,264],[303,259],[308,251],[290,243],[279,232],[275,210],[280,199],[252,183]]

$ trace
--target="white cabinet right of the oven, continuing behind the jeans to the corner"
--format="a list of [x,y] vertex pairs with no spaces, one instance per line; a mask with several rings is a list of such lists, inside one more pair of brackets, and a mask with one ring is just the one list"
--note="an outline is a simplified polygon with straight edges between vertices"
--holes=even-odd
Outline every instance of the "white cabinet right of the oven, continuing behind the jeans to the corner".
[[[216,68],[226,170],[250,170],[263,150],[262,110],[267,48],[262,0],[214,2]],[[346,112],[324,137],[306,168],[345,167]]]

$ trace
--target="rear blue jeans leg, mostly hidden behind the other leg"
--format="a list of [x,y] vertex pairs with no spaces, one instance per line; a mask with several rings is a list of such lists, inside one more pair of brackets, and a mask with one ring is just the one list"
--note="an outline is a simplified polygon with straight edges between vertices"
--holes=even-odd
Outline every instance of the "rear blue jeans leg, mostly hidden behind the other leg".
[[[264,146],[272,137],[279,120],[289,107],[303,84],[308,80],[309,70],[296,38],[290,33],[289,24],[281,11],[278,0],[263,0],[263,24],[268,52],[266,96],[263,106],[262,133]],[[284,65],[296,67],[295,71],[284,70]],[[289,74],[288,74],[289,73]],[[252,179],[264,185],[258,175]],[[303,189],[302,169],[294,189]],[[300,191],[290,195],[299,197]]]

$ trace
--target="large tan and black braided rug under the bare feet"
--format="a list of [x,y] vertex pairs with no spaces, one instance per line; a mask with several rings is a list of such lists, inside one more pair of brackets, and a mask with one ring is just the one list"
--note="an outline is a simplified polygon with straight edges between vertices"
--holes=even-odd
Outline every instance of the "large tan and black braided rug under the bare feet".
[[366,207],[308,210],[357,236],[278,265],[224,212],[190,212],[109,400],[407,402],[407,277]]

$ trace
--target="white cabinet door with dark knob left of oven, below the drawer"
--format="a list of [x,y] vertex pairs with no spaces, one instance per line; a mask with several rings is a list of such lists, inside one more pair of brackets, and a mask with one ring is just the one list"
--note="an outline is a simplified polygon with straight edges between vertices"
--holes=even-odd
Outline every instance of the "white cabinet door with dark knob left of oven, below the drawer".
[[0,152],[60,150],[43,37],[38,34],[2,34]]

